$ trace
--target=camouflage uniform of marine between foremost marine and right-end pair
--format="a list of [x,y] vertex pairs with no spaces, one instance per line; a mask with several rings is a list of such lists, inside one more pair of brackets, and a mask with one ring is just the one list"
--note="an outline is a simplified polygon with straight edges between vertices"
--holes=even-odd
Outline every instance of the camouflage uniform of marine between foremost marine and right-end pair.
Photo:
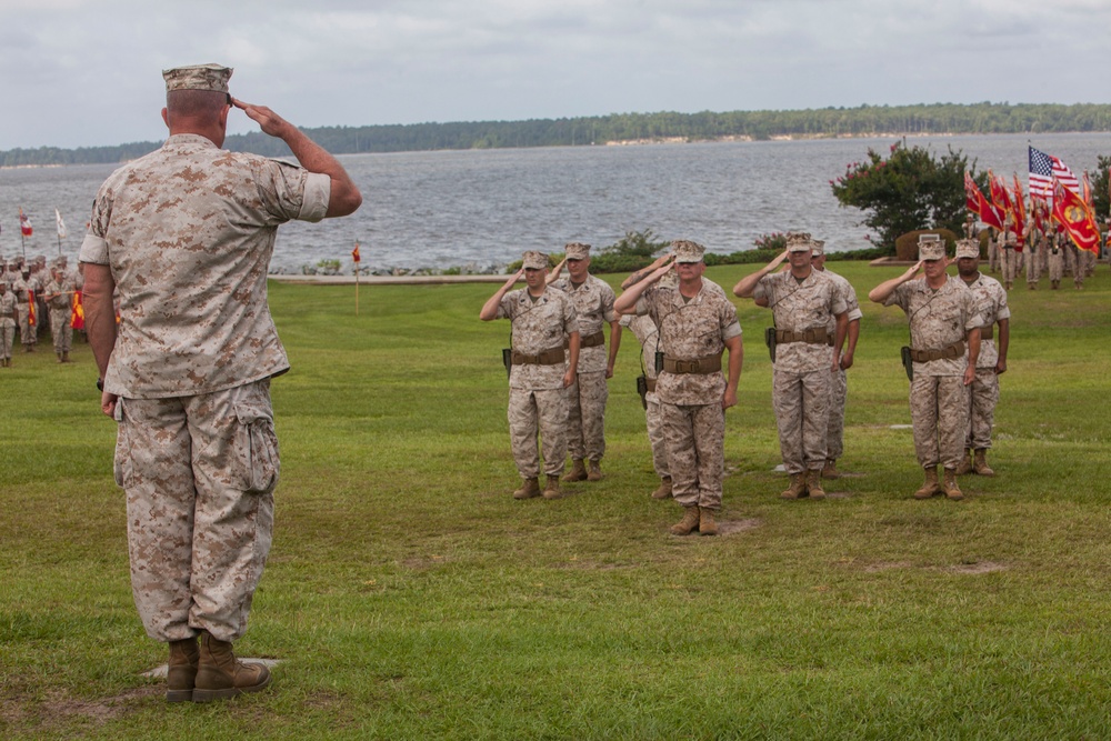
[[819,270],[802,282],[790,271],[768,273],[752,298],[767,299],[775,318],[772,407],[779,448],[790,474],[821,470],[827,459],[832,342],[828,328],[847,311],[837,284]]

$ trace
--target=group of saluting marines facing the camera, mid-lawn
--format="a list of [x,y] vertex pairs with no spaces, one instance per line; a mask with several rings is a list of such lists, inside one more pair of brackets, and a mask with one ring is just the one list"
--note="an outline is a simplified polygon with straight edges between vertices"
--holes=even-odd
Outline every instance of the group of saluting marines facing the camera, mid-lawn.
[[[621,327],[627,327],[642,350],[638,385],[661,481],[652,497],[673,497],[682,505],[683,518],[672,533],[715,534],[724,410],[737,403],[743,363],[735,307],[703,277],[704,248],[694,242],[672,242],[670,253],[622,282],[620,296],[589,274],[589,251],[581,243],[565,247],[567,279],[559,278],[564,263],[549,272],[547,254],[526,252],[520,271],[480,311],[484,321],[512,322],[512,347],[506,351],[509,428],[523,480],[513,495],[559,498],[568,447],[573,462],[563,480],[601,478],[605,379],[613,374]],[[923,234],[919,262],[869,293],[872,301],[900,307],[909,319],[911,343],[903,354],[911,375],[914,447],[924,471],[917,499],[945,494],[960,500],[958,474],[994,473],[987,450],[998,375],[1007,370],[1010,311],[1005,290],[980,273],[979,260],[973,239],[961,240],[955,259],[948,260],[944,242]],[[952,262],[959,278],[947,273]],[[512,290],[521,278],[526,288]],[[853,364],[860,333],[855,292],[825,269],[821,240],[791,232],[787,249],[742,278],[733,293],[773,316],[765,342],[773,361],[780,451],[790,477],[781,497],[824,498],[822,480],[841,475],[837,461],[843,453],[845,371]],[[547,477],[542,491],[538,438]]]

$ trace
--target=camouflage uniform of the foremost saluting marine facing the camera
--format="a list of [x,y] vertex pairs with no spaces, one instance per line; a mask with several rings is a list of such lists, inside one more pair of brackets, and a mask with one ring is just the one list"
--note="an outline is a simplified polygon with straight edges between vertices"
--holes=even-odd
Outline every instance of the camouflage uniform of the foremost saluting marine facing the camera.
[[[678,286],[653,286],[638,299],[637,314],[650,316],[660,328],[665,356],[655,393],[663,412],[672,495],[684,508],[718,511],[725,465],[721,356],[725,340],[741,337],[741,324],[721,288],[707,283],[703,280],[702,290],[690,300]],[[714,358],[717,371],[690,372],[692,361],[699,361],[699,368],[712,367]]]

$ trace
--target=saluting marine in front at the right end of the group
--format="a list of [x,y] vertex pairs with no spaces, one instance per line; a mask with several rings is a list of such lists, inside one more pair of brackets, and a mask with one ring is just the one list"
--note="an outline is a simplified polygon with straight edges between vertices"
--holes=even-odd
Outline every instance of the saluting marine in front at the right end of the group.
[[[975,379],[983,320],[972,291],[945,273],[949,261],[939,237],[922,234],[918,257],[914,267],[883,281],[868,298],[885,307],[898,306],[910,323],[910,414],[914,451],[925,472],[914,498],[944,493],[959,500],[964,495],[957,484],[957,468],[968,435],[968,387]],[[940,485],[939,463],[944,468]]]

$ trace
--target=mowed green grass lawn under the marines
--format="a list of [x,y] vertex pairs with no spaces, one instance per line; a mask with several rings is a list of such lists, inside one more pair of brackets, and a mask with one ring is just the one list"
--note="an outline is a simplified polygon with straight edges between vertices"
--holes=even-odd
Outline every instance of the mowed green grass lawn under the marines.
[[[169,705],[128,580],[113,423],[88,346],[0,371],[0,737],[1111,738],[1105,267],[1011,292],[994,479],[919,485],[900,269],[831,263],[862,301],[852,475],[783,502],[767,310],[739,301],[725,534],[674,538],[625,333],[607,478],[518,502],[490,284],[271,286],[282,481],[240,655],[267,692]],[[712,269],[727,291],[752,267]],[[955,272],[955,268],[951,269]],[[617,284],[621,277],[605,277]],[[1067,283],[1067,286],[1069,286]]]

